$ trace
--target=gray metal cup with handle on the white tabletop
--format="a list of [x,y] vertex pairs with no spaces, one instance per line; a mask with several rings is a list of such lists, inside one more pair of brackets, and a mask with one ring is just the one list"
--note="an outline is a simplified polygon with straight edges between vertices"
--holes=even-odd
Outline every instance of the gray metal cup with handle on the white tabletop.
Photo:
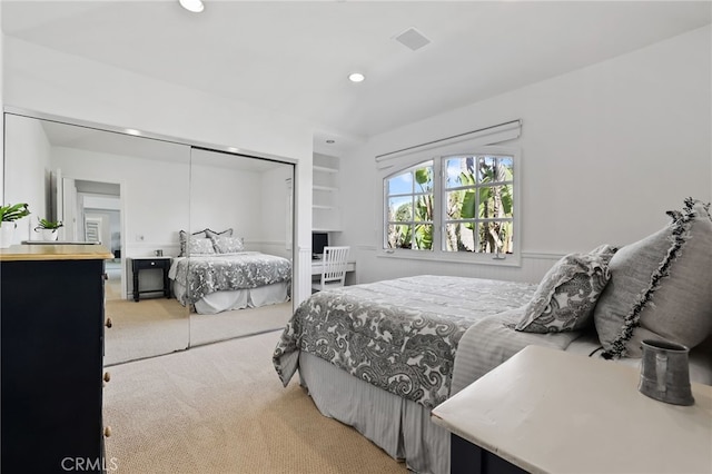
[[645,339],[637,389],[651,398],[673,405],[692,405],[690,349],[668,340]]

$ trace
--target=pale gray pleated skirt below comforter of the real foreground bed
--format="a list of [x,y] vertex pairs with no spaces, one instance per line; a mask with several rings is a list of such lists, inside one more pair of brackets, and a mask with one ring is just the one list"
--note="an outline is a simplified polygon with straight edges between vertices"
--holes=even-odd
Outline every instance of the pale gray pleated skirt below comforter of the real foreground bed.
[[349,375],[310,354],[299,354],[299,379],[324,416],[353,426],[409,470],[449,473],[449,432],[431,411]]

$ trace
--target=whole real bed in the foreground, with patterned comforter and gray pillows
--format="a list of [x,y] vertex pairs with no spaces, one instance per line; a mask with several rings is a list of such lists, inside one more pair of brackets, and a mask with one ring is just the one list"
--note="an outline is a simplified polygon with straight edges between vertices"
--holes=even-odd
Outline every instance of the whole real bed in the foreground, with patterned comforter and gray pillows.
[[431,409],[527,345],[640,364],[640,338],[691,347],[712,384],[712,219],[685,200],[661,231],[570,254],[538,284],[423,275],[310,296],[273,363],[298,372],[325,415],[418,473],[449,472],[449,435]]

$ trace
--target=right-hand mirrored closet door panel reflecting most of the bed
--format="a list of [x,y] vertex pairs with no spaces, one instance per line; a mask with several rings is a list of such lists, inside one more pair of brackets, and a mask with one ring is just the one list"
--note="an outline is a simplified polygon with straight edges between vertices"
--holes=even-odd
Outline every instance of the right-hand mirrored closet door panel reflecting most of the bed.
[[180,297],[191,346],[285,326],[291,315],[294,166],[194,148]]

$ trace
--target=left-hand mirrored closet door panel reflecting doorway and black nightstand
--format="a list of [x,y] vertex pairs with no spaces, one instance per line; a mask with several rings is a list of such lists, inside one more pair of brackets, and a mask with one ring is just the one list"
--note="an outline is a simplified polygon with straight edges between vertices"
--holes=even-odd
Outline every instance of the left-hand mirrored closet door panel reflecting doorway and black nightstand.
[[62,221],[59,241],[98,241],[113,254],[105,364],[189,347],[188,309],[170,297],[164,268],[190,227],[190,147],[12,113],[4,146],[4,201],[31,211],[17,243],[41,245],[34,227],[47,218]]

